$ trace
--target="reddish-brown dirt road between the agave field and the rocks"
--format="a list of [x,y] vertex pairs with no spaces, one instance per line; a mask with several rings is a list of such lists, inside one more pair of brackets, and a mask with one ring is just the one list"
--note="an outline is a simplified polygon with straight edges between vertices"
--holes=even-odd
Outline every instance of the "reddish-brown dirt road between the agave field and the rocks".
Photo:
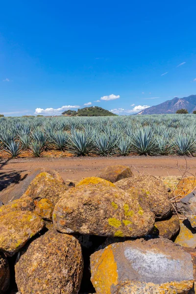
[[78,181],[81,178],[97,175],[108,165],[129,166],[134,174],[145,173],[154,176],[196,174],[194,157],[71,157],[71,158],[28,158],[0,161],[0,191],[12,182],[19,182],[36,168],[54,169],[60,172],[64,180]]

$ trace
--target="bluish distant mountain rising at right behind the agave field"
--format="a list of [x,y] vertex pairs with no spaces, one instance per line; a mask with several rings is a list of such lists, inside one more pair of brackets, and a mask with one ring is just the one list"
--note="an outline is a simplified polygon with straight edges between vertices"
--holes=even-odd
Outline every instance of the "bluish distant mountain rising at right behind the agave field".
[[138,114],[170,114],[176,113],[178,109],[185,108],[189,113],[196,110],[196,95],[191,95],[184,98],[173,98],[161,104],[151,106],[140,111]]

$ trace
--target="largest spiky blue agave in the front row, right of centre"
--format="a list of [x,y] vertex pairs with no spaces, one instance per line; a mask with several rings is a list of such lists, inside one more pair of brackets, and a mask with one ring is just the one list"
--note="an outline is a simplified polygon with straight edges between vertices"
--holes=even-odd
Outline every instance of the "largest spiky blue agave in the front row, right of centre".
[[139,155],[158,155],[154,133],[150,128],[139,129],[130,138],[131,151]]

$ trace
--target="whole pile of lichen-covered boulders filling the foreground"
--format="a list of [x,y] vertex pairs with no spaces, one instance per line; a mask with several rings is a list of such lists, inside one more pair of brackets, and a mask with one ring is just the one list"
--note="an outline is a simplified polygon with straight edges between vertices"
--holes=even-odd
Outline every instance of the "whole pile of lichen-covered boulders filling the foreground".
[[70,187],[42,171],[0,206],[0,294],[193,294],[195,203],[179,221],[163,182],[125,166]]

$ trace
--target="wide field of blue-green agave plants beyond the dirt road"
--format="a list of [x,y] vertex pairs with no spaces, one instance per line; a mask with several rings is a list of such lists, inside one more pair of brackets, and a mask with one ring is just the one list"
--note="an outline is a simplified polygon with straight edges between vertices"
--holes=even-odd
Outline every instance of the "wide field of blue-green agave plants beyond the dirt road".
[[0,153],[195,155],[196,115],[0,118]]

